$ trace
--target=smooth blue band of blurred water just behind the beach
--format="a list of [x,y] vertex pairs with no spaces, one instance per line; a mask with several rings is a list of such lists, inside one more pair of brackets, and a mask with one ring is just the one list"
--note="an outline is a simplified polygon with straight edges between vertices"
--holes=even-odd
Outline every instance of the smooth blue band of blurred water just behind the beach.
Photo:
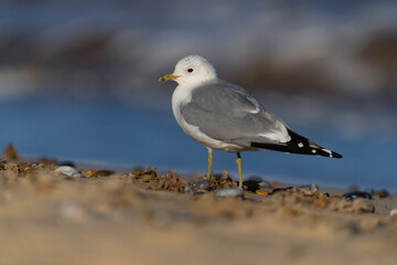
[[[135,166],[205,172],[206,149],[189,138],[171,112],[112,102],[7,100],[0,103],[0,148],[13,142],[28,158],[41,156],[130,169]],[[324,128],[293,127],[343,159],[244,152],[245,177],[290,183],[386,188],[397,191],[397,138],[341,139]],[[214,153],[214,171],[236,176],[235,155]]]

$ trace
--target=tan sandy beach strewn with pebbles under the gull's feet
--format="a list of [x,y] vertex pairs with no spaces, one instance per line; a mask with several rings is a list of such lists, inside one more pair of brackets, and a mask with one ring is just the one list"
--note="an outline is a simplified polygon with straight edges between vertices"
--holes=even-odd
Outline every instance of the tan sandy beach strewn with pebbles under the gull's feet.
[[[54,172],[56,161],[0,162],[1,264],[396,264],[397,197],[250,188],[185,194],[197,179],[152,169]],[[257,189],[257,190],[256,190]],[[373,206],[375,209],[373,209]]]

